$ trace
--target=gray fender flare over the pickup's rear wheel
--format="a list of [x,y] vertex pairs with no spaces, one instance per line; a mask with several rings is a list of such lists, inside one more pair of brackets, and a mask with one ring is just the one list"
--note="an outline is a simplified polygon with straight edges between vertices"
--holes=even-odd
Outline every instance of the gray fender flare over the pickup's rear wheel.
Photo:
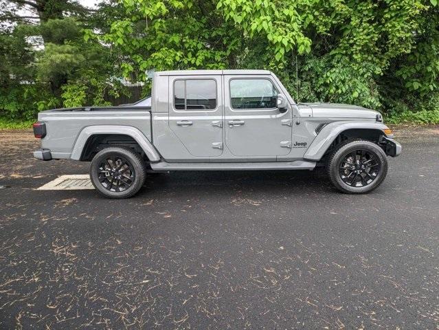
[[151,142],[141,131],[139,131],[139,129],[136,129],[133,126],[122,125],[93,125],[85,127],[85,129],[82,129],[78,135],[78,138],[76,139],[70,158],[80,160],[82,151],[84,150],[85,144],[89,140],[89,137],[99,134],[122,134],[131,136],[143,149],[150,162],[158,162],[160,160],[160,155],[154,148],[153,144],[151,144]]

